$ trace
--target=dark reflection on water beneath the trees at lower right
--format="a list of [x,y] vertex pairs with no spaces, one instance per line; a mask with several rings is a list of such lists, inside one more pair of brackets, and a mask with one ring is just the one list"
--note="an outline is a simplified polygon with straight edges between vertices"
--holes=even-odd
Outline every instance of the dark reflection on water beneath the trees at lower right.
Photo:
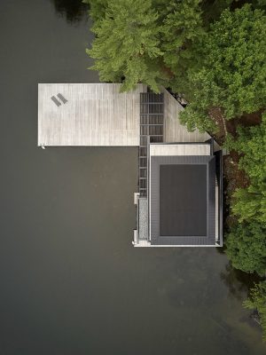
[[254,287],[254,283],[261,279],[256,274],[241,272],[235,269],[229,262],[225,266],[225,270],[220,273],[220,278],[229,290],[229,295],[241,301],[246,298],[250,288]]

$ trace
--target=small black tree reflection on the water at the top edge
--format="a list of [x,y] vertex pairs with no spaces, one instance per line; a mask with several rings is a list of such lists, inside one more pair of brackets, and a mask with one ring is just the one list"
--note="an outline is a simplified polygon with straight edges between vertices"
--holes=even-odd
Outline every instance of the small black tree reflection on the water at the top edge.
[[51,0],[51,3],[59,16],[66,17],[71,24],[87,20],[89,6],[83,4],[82,0]]

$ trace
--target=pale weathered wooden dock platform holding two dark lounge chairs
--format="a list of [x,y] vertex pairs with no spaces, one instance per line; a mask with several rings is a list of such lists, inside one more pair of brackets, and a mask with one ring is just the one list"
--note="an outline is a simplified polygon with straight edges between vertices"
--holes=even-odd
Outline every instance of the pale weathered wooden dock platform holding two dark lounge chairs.
[[[146,85],[39,83],[38,146],[139,146],[139,99]],[[57,106],[51,97],[67,99]]]

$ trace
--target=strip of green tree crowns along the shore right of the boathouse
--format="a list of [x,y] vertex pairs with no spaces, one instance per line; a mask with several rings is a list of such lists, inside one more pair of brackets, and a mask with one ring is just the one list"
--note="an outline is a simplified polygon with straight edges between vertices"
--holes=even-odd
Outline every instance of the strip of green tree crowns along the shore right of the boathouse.
[[[226,238],[232,264],[246,272],[266,271],[266,114],[254,127],[238,128],[238,137],[227,139],[227,147],[240,154],[239,168],[250,185],[233,194],[231,210],[239,225]],[[264,270],[264,271],[263,271]]]

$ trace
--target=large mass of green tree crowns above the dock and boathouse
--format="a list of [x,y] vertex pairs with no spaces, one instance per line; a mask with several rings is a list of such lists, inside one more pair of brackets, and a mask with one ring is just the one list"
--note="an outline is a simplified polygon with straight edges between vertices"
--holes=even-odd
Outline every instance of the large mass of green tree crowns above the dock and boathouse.
[[[260,2],[234,11],[231,0],[84,0],[96,35],[92,67],[106,82],[160,84],[183,92],[189,130],[215,131],[209,109],[225,118],[266,103],[266,18]],[[219,3],[219,4],[218,4]],[[237,4],[237,3],[235,3]]]

